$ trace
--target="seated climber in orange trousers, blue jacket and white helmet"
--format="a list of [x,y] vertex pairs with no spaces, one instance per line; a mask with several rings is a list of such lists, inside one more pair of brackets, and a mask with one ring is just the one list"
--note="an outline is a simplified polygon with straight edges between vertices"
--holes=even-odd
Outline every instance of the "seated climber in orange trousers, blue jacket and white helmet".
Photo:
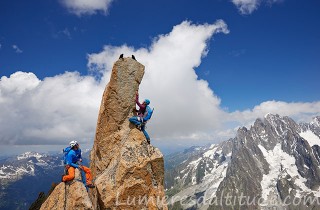
[[71,141],[70,148],[71,149],[68,151],[65,157],[66,169],[68,173],[62,177],[62,181],[67,182],[73,180],[75,177],[75,169],[78,168],[79,170],[84,171],[86,174],[86,186],[89,188],[94,188],[94,185],[92,184],[90,168],[78,164],[78,162],[82,162],[81,150],[78,142]]

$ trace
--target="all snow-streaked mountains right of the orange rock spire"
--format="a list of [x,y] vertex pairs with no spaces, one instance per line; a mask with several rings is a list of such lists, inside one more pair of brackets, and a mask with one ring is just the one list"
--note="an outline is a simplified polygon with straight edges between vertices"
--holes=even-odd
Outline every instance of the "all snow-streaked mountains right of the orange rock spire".
[[[235,138],[168,156],[172,209],[320,209],[320,117],[268,114]],[[179,162],[179,160],[181,160]],[[170,165],[170,167],[168,167]]]

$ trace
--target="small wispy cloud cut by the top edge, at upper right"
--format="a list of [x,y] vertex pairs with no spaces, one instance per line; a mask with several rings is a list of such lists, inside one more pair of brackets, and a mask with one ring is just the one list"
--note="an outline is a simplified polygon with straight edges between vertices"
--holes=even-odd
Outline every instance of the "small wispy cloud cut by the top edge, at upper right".
[[257,10],[261,3],[272,5],[282,1],[283,0],[232,0],[232,3],[238,8],[241,14],[248,15]]

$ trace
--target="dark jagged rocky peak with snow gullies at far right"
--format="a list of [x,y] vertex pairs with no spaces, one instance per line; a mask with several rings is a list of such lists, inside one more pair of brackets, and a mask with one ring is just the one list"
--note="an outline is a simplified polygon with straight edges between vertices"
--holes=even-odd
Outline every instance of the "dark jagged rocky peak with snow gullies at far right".
[[[303,131],[317,129],[315,123],[298,125],[288,117],[272,114],[264,120],[256,120],[250,130],[239,129],[233,140],[232,158],[226,178],[219,186],[217,198],[219,201],[228,193],[233,198],[239,198],[243,193],[247,198],[255,198],[256,202],[247,202],[245,205],[239,202],[227,205],[222,202],[222,206],[212,207],[284,209],[290,206],[290,209],[309,209],[301,203],[294,205],[293,201],[315,194],[320,186],[318,146],[311,148],[310,142],[301,134]],[[285,205],[284,201],[291,202]]]

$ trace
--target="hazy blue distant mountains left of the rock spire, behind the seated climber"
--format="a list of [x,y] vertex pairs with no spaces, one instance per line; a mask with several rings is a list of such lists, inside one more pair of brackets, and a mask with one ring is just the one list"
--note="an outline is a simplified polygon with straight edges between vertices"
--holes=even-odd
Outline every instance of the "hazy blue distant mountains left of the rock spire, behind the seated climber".
[[[0,160],[0,209],[28,209],[40,192],[47,193],[63,174],[62,152],[40,154],[26,152]],[[83,154],[88,163],[88,151]]]

